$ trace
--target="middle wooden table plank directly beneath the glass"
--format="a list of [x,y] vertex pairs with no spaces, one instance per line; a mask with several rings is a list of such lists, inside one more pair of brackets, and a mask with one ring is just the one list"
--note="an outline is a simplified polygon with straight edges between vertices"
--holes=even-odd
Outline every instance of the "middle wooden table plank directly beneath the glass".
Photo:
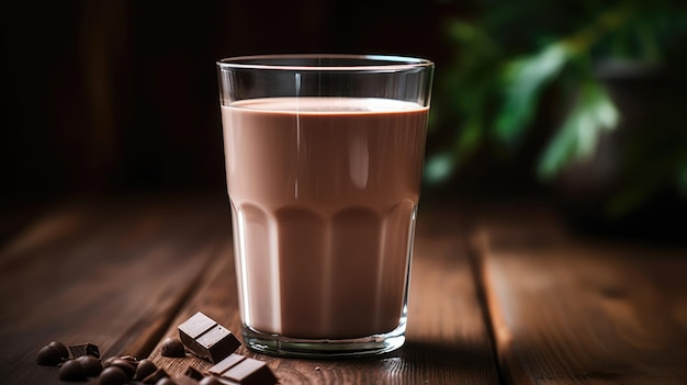
[[[268,362],[280,384],[497,384],[495,358],[475,295],[465,245],[450,215],[419,220],[410,284],[406,346],[376,358],[299,360],[239,353]],[[431,215],[431,216],[429,216]],[[234,331],[240,330],[233,251],[207,270],[204,285],[179,313],[165,337],[195,312]],[[161,339],[162,340],[162,339]],[[193,356],[169,359],[158,346],[151,358],[170,373],[210,363]]]

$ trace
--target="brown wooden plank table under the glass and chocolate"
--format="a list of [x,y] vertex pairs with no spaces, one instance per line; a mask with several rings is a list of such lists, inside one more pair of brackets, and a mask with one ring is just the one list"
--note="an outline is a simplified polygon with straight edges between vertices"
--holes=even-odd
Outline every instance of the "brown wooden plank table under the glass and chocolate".
[[[687,384],[687,248],[575,238],[550,213],[424,202],[401,350],[239,353],[281,384]],[[60,383],[35,363],[52,340],[206,370],[160,341],[198,310],[239,330],[229,215],[223,196],[149,196],[3,223],[0,384]]]

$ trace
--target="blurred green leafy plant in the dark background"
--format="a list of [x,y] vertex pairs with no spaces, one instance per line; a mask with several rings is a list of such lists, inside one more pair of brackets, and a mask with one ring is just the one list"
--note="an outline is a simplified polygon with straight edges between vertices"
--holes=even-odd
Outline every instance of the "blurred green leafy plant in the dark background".
[[[439,73],[443,87],[437,90],[431,127],[458,129],[449,146],[429,157],[429,182],[450,178],[485,144],[506,152],[517,149],[527,140],[547,98],[554,98],[565,110],[537,162],[541,180],[552,180],[566,167],[593,156],[604,132],[616,129],[622,120],[597,77],[599,64],[683,66],[682,71],[687,65],[685,1],[484,0],[478,5],[476,18],[455,20],[448,29],[457,59]],[[673,84],[685,87],[679,81]],[[673,134],[677,137],[669,146],[672,152],[656,165],[662,171],[638,173],[619,193],[618,212],[665,183],[687,194],[687,128]],[[661,140],[641,140],[634,156],[662,151],[652,147]]]

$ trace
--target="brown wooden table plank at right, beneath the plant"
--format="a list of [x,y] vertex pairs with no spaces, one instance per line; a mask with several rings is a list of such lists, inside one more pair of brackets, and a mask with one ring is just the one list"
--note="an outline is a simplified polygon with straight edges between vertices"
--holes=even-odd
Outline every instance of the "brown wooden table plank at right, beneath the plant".
[[687,384],[687,249],[574,239],[539,219],[491,222],[476,239],[504,377]]

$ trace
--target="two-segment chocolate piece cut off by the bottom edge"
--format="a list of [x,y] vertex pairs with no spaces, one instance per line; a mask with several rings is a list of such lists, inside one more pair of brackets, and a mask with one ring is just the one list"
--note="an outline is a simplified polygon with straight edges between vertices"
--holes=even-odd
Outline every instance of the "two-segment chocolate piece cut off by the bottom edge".
[[210,374],[232,385],[273,385],[277,376],[266,362],[232,354],[210,369]]

